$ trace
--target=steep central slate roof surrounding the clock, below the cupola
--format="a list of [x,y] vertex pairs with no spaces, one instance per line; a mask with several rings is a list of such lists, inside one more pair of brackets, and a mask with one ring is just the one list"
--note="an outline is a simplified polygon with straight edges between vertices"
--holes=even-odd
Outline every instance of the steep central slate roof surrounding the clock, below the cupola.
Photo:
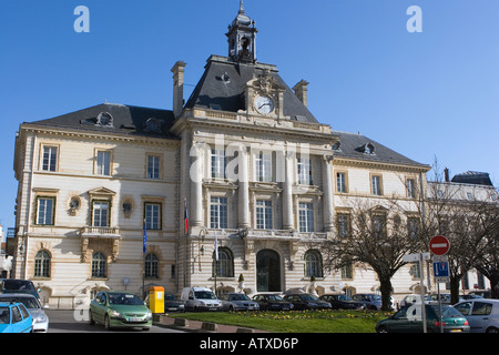
[[285,88],[284,115],[291,116],[292,120],[318,123],[310,111],[279,77],[274,65],[235,62],[218,55],[212,55],[208,59],[205,72],[187,100],[185,108],[216,108],[228,112],[246,110],[244,85],[249,80],[262,75],[265,68],[273,68],[273,78]]

